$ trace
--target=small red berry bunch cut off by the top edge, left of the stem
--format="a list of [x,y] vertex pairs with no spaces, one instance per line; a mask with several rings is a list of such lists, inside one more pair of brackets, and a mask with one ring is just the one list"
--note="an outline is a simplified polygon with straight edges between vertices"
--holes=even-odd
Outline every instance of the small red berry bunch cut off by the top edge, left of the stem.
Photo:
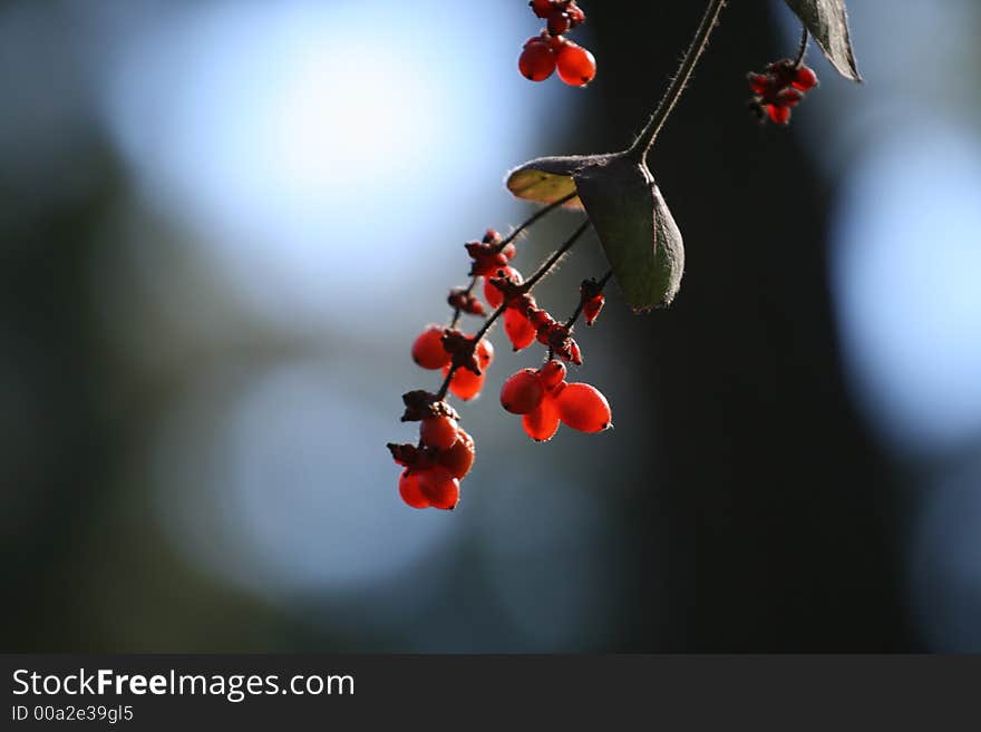
[[546,22],[541,35],[532,36],[522,50],[517,68],[532,81],[544,81],[555,69],[559,78],[573,87],[583,87],[596,76],[596,59],[582,46],[563,36],[585,21],[575,0],[532,0],[532,11]]

